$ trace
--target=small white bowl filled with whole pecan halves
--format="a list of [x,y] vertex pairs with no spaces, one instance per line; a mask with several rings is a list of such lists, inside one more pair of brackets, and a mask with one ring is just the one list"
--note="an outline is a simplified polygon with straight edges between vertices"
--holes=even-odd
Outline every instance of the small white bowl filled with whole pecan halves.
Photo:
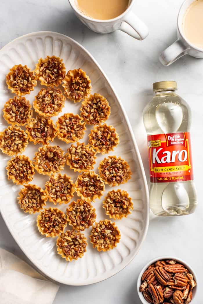
[[194,270],[175,257],[159,257],[142,268],[137,282],[143,304],[188,304],[197,292]]

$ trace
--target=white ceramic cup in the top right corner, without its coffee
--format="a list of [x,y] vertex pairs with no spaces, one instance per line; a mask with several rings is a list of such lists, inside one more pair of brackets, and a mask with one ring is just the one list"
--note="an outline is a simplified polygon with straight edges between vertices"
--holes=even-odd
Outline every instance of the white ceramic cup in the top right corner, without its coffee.
[[184,14],[192,2],[194,0],[185,0],[180,7],[177,19],[178,39],[159,56],[159,60],[163,65],[168,66],[186,54],[196,58],[203,58],[203,49],[190,43],[185,38],[182,28]]

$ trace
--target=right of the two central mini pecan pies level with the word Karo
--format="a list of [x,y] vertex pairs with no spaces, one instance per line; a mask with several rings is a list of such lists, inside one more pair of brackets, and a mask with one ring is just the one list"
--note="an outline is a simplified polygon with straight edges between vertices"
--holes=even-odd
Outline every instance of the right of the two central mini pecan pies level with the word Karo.
[[93,170],[96,160],[96,152],[93,147],[85,143],[77,142],[77,145],[71,145],[66,154],[66,163],[74,172]]

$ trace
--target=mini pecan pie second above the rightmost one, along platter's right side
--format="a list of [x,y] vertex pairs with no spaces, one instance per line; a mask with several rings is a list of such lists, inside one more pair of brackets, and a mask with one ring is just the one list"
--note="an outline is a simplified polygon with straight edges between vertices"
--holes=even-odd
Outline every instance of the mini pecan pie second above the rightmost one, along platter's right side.
[[107,126],[107,124],[94,126],[89,134],[89,144],[97,152],[106,154],[109,151],[114,151],[119,143],[119,136],[116,129],[113,126]]

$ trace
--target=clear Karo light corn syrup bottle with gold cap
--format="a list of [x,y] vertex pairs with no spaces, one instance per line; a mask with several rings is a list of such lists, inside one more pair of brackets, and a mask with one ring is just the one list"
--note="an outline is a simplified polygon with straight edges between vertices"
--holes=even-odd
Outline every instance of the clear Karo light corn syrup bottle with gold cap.
[[153,84],[155,96],[146,105],[150,208],[159,216],[193,213],[197,206],[191,153],[191,110],[177,95],[175,81]]

